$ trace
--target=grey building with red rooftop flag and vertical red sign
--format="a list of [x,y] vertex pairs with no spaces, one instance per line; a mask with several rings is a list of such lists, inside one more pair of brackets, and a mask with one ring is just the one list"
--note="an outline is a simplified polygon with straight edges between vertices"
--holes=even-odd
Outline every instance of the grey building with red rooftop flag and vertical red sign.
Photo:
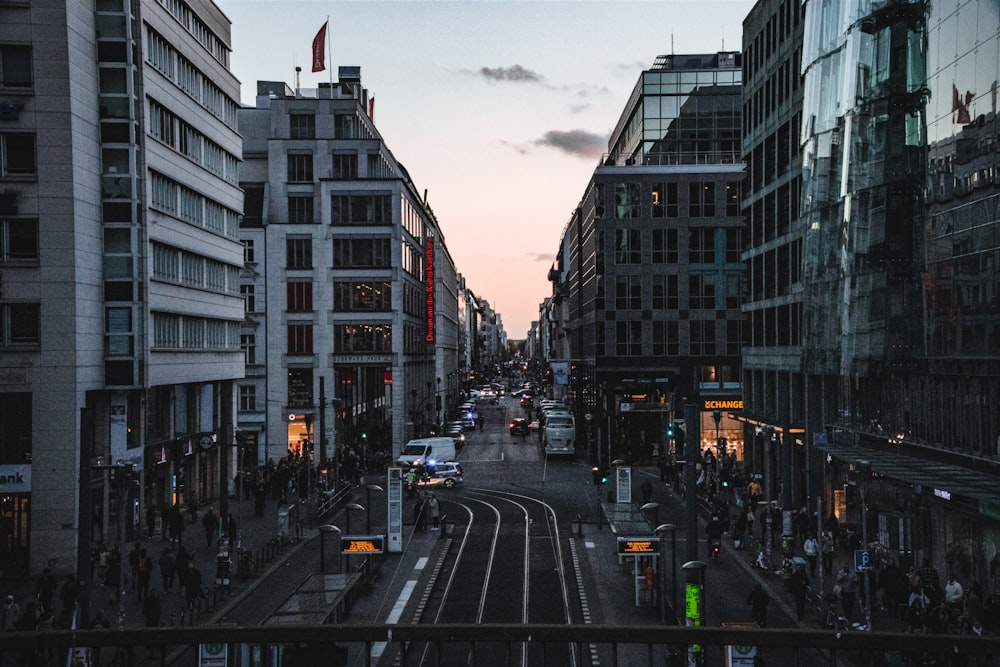
[[[458,280],[426,193],[371,118],[360,68],[240,111],[246,210],[238,428],[246,466],[398,454],[458,367]],[[394,460],[394,459],[393,459]]]

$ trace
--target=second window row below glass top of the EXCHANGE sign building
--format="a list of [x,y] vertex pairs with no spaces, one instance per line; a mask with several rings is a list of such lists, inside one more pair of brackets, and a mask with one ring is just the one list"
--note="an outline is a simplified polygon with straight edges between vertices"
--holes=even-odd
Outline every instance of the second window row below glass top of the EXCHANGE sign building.
[[[727,264],[739,264],[743,252],[744,232],[742,227],[692,227],[688,230],[688,263],[714,264],[716,239],[720,229],[725,237]],[[643,260],[643,238],[648,234],[650,256]],[[616,229],[614,258],[615,264],[677,264],[679,260],[679,236],[677,229]],[[598,232],[595,248],[597,272],[604,271],[605,235]]]

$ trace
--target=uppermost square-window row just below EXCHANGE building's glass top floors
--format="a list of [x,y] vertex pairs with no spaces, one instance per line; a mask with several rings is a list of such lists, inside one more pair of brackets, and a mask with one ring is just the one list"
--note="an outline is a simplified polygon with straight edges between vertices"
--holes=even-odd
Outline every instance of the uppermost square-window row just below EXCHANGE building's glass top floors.
[[[718,192],[719,184],[715,181],[690,181],[687,188],[687,201],[681,201],[678,194],[679,185],[676,182],[615,183],[616,220],[631,220],[638,218],[679,218],[681,210],[686,207],[689,218],[713,218],[717,212],[724,212],[726,217],[740,215],[740,184],[737,181],[725,183],[723,190]],[[643,190],[646,190],[645,195]],[[719,202],[721,194],[723,201]],[[598,202],[603,200],[603,188],[598,188]],[[598,213],[600,217],[602,213]]]

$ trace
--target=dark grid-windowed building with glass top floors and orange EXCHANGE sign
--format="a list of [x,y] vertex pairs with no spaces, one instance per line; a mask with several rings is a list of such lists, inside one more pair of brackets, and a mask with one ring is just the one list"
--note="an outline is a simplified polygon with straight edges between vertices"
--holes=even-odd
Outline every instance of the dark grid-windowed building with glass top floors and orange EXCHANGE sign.
[[657,58],[563,232],[546,355],[569,364],[556,392],[594,462],[648,456],[689,402],[702,446],[742,459],[716,412],[742,399],[741,80],[739,53]]

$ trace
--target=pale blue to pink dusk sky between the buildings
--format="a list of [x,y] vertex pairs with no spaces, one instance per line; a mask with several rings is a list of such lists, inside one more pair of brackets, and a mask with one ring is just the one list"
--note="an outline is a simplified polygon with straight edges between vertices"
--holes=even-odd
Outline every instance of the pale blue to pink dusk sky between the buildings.
[[333,78],[361,68],[375,126],[427,192],[456,270],[524,338],[552,294],[559,239],[644,69],[741,49],[752,0],[215,0],[242,102],[302,88],[329,17]]

